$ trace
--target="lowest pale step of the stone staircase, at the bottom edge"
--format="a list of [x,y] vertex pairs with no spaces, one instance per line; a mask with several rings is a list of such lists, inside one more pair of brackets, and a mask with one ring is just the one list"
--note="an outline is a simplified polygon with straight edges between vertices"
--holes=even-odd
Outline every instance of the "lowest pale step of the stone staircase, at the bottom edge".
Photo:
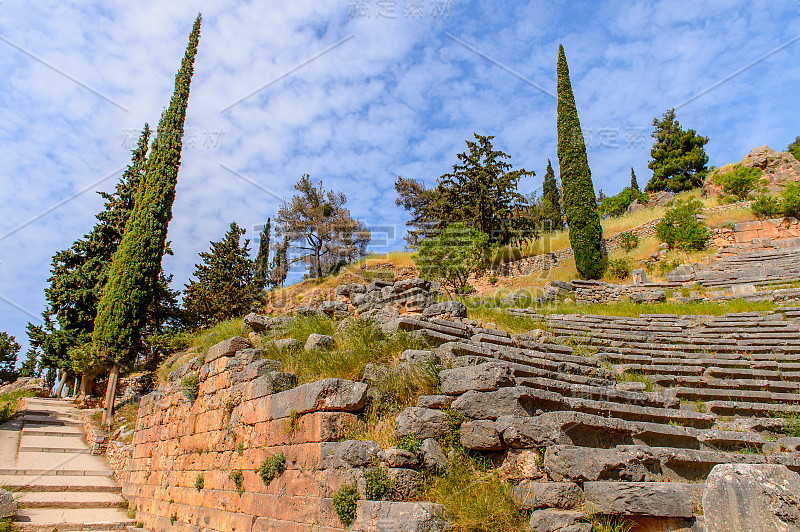
[[17,511],[14,526],[25,532],[124,530],[135,524],[117,508],[26,508]]

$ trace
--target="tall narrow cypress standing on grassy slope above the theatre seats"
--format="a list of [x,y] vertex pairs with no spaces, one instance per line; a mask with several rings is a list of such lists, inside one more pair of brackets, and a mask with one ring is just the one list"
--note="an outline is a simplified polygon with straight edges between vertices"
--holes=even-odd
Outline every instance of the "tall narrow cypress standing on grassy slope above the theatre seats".
[[585,279],[603,274],[603,226],[597,212],[592,174],[586,157],[581,124],[564,47],[558,46],[558,165],[564,194],[564,213],[575,266]]

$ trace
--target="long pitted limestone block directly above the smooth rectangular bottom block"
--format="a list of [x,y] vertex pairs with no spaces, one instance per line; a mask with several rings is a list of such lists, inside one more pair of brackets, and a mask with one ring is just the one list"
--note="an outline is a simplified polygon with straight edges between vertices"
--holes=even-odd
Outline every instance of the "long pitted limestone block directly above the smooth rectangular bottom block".
[[661,463],[644,448],[592,449],[572,445],[547,448],[544,468],[556,481],[626,480],[645,482],[657,480]]

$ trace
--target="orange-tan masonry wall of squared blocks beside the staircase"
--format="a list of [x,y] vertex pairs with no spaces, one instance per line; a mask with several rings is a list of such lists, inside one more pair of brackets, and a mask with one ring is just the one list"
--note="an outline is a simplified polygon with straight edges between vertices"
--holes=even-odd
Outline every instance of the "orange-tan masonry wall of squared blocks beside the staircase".
[[[293,376],[243,342],[218,344],[202,366],[189,362],[142,399],[122,479],[137,520],[154,532],[345,530],[332,496],[361,472],[332,467],[336,444],[327,442],[356,422],[366,385],[326,379],[279,391]],[[200,375],[195,401],[181,391],[192,373]],[[279,452],[286,471],[265,485],[254,470]],[[238,470],[241,494],[231,479]]]

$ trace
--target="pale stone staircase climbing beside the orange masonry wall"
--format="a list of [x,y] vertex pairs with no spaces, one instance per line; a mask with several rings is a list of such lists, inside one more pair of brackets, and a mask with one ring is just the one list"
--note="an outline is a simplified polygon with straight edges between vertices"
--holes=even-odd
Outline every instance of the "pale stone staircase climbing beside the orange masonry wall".
[[31,398],[0,427],[0,485],[21,531],[119,530],[133,525],[105,459],[93,456],[72,403]]

